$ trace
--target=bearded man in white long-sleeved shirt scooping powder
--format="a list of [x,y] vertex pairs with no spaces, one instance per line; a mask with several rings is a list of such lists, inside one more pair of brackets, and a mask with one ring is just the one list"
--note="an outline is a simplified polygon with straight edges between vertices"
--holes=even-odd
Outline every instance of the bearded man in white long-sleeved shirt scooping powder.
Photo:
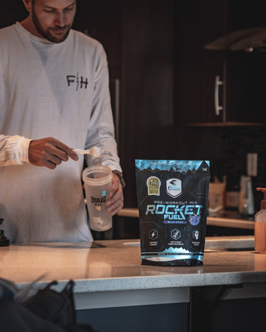
[[106,208],[123,208],[103,47],[72,30],[76,0],[23,0],[29,15],[0,30],[0,217],[11,242],[87,241],[73,149],[103,149],[114,172]]

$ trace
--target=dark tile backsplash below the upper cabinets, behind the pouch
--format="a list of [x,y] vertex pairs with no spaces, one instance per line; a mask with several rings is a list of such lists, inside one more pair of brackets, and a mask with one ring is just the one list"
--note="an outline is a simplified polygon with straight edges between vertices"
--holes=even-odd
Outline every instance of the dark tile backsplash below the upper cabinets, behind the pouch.
[[[260,210],[263,194],[256,187],[266,187],[266,126],[179,127],[175,138],[168,138],[175,146],[169,148],[169,157],[211,161],[211,181],[217,176],[222,181],[240,183],[247,175],[247,154],[258,154],[257,176],[252,177],[255,210]],[[167,136],[167,134],[166,134]]]

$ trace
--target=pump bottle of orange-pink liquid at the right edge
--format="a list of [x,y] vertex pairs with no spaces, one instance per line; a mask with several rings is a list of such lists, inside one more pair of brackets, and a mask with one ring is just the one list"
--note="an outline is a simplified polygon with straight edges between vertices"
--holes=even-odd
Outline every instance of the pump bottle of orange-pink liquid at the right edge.
[[260,254],[266,254],[266,188],[257,188],[263,192],[263,200],[260,203],[260,211],[255,214],[255,250]]

